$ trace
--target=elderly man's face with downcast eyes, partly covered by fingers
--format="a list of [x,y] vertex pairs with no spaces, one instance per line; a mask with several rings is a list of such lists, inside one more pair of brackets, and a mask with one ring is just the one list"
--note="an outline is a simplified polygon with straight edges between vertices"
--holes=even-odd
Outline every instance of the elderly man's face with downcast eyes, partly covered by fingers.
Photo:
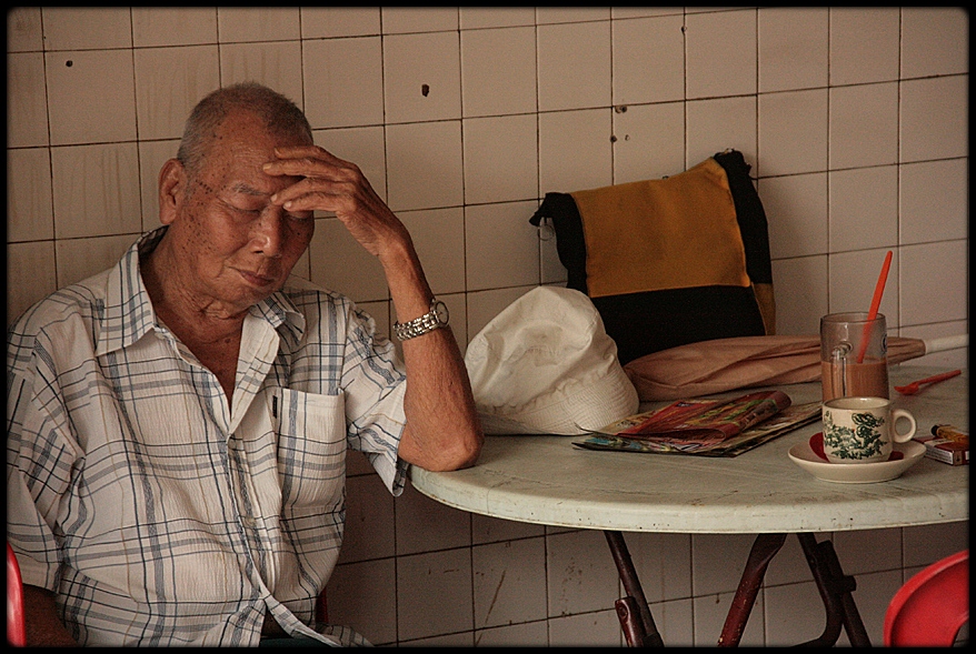
[[312,212],[290,213],[270,200],[299,178],[261,170],[276,145],[297,144],[308,142],[269,134],[248,112],[231,114],[196,178],[177,193],[171,211],[161,211],[187,266],[178,274],[202,305],[247,310],[285,284],[311,241]]

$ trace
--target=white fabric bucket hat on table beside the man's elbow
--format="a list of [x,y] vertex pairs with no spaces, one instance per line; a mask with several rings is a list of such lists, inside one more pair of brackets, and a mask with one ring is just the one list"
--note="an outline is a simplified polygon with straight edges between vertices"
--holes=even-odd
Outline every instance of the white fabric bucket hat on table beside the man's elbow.
[[470,342],[465,364],[488,434],[597,430],[637,412],[617,344],[584,293],[532,289]]

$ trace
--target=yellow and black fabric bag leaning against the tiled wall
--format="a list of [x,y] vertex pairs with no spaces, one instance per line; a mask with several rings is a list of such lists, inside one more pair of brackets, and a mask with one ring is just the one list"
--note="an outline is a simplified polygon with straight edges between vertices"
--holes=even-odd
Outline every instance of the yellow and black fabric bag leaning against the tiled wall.
[[589,295],[623,364],[668,348],[775,333],[766,213],[736,150],[687,171],[546,193],[566,285]]

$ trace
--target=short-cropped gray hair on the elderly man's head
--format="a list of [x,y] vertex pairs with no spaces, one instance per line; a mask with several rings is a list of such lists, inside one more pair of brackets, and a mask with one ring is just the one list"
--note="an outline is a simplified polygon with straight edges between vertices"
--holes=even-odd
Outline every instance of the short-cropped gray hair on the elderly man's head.
[[312,143],[311,125],[295,102],[257,82],[241,82],[212,91],[200,100],[187,119],[177,159],[190,177],[196,175],[207,154],[217,128],[231,111],[246,109],[257,115],[266,129],[288,137],[307,138]]

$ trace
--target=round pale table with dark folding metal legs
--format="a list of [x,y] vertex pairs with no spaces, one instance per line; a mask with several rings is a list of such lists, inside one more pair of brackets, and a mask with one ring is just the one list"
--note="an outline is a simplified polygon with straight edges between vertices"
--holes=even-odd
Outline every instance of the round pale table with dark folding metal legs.
[[[894,386],[942,370],[902,364],[892,366],[889,376]],[[780,390],[794,404],[820,399],[819,382],[791,384]],[[745,392],[739,390],[716,398],[734,398]],[[928,432],[936,423],[968,431],[968,370],[959,376],[924,386],[916,395],[904,396],[892,390],[895,406],[914,413],[919,432]],[[641,410],[664,404],[646,404]],[[746,586],[758,588],[766,564],[786,534],[800,536],[805,551],[810,550],[809,559],[815,555],[813,533],[935,524],[969,517],[968,465],[950,466],[924,457],[902,476],[880,483],[840,484],[816,479],[790,461],[787,452],[821,430],[823,423],[815,421],[730,459],[599,452],[574,446],[572,441],[582,436],[491,435],[486,437],[475,466],[440,473],[414,467],[411,481],[425,495],[471,513],[602,530],[625,588],[631,586],[635,592],[629,593],[627,588],[628,594],[637,595],[636,607],[618,606],[618,612],[643,614],[647,608],[636,573],[633,580],[624,578],[633,573],[633,566],[619,532],[760,534],[754,546],[756,561],[747,566],[751,578],[744,575],[740,584],[745,593],[743,602],[747,605],[738,611],[744,611],[745,616],[730,615],[727,623],[731,625],[730,635],[723,633],[724,638],[737,642],[733,632],[738,631],[740,635],[755,598],[754,590]],[[824,570],[836,562],[833,552],[826,556]],[[823,570],[814,570],[813,562],[810,565],[817,577]],[[835,572],[839,574],[839,566]],[[839,575],[837,581],[843,580],[849,577]],[[819,584],[820,580],[817,581]],[[839,597],[845,595],[849,598],[849,592],[841,592]],[[853,600],[850,603],[853,608]],[[828,606],[828,614],[830,611]],[[841,617],[847,626],[848,616]],[[856,611],[854,617],[854,622],[859,622]],[[645,622],[648,618],[649,611]],[[646,628],[656,635],[653,621]],[[851,636],[851,642],[857,640]]]

